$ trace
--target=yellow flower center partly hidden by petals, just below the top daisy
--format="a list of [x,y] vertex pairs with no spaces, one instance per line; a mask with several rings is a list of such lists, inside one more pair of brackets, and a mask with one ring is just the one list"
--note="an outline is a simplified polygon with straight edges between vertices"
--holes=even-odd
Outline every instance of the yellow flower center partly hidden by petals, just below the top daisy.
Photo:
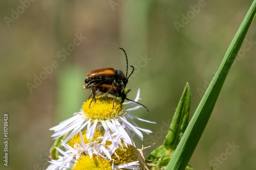
[[[84,140],[84,143],[85,143],[85,144],[87,144],[87,143],[90,142],[90,140],[88,140],[87,137],[86,137],[86,131],[87,131],[87,130],[84,130],[84,131],[82,132],[82,136],[83,136],[83,140]],[[92,139],[91,141],[95,141],[95,139],[96,139],[97,137],[100,137],[100,136],[102,136],[102,133],[101,133],[99,130],[96,129],[95,134],[94,134],[94,136],[93,136],[93,139]],[[97,141],[99,141],[99,139],[97,139]],[[81,143],[81,138],[80,138],[79,133],[76,134],[74,137],[72,137],[72,138],[70,139],[70,141],[69,141],[67,144],[70,145],[70,147],[74,148],[74,144],[75,144],[75,143]]]

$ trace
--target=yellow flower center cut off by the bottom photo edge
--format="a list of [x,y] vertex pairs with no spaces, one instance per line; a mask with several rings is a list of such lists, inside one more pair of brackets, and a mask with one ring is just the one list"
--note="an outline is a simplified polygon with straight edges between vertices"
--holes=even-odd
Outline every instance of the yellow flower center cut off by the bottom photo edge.
[[112,170],[110,161],[105,160],[100,156],[94,155],[90,158],[89,155],[80,157],[72,170]]

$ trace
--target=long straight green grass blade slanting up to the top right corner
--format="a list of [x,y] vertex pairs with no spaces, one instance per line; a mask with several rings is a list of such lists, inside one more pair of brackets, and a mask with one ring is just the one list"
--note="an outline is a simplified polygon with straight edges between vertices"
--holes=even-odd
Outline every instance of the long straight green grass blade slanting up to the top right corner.
[[253,1],[240,28],[238,29],[237,34],[234,36],[214,79],[212,79],[197,110],[191,118],[188,127],[185,130],[185,133],[182,136],[166,169],[185,169],[189,159],[196,149],[198,141],[200,140],[209,120],[210,114],[214,109],[228,71],[239,52],[255,13],[256,0]]

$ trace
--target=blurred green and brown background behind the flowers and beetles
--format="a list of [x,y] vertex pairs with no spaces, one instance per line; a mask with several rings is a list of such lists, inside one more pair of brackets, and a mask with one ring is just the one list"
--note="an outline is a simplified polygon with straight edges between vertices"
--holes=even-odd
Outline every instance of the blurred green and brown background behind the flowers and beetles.
[[[49,128],[71,117],[88,99],[90,90],[81,87],[89,71],[125,71],[118,47],[135,66],[127,97],[134,99],[140,88],[140,102],[150,110],[133,114],[157,122],[139,124],[154,131],[144,135],[144,142],[136,139],[138,148],[156,143],[145,150],[147,156],[162,144],[186,82],[193,115],[251,3],[2,1],[0,123],[3,128],[4,113],[9,113],[9,166],[3,165],[1,149],[0,168],[46,169],[53,144]],[[183,25],[179,29],[178,22]],[[254,21],[190,160],[196,169],[255,169],[255,30]],[[77,36],[86,38],[78,45]],[[228,154],[233,142],[239,148]]]

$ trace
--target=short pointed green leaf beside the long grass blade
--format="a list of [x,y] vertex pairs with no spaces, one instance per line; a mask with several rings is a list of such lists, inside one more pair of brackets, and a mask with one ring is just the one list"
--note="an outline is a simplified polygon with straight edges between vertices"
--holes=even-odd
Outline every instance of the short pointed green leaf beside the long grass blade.
[[190,88],[187,83],[163,143],[166,149],[172,149],[174,151],[187,128],[190,111],[190,97]]

